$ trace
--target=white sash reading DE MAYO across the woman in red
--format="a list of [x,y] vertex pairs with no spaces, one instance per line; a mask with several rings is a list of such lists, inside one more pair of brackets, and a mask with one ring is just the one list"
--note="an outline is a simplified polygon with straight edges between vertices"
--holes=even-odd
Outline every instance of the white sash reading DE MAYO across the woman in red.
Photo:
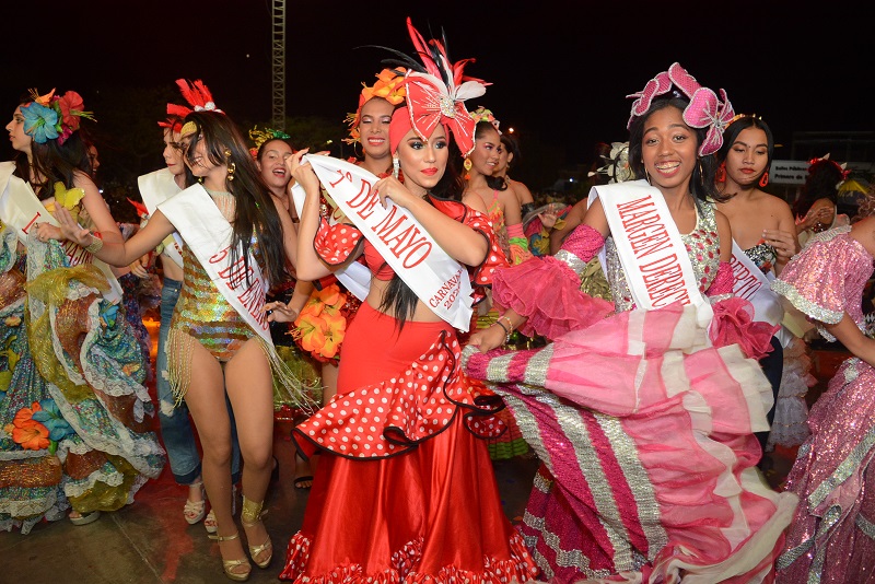
[[434,314],[459,330],[470,327],[468,270],[450,257],[402,207],[373,190],[380,180],[361,166],[325,155],[305,155],[331,199],[401,280]]

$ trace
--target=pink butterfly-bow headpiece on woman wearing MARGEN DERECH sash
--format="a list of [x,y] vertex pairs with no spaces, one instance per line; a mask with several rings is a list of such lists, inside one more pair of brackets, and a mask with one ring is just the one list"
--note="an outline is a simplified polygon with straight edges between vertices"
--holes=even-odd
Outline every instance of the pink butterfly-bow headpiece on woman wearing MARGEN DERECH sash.
[[626,125],[627,129],[631,127],[634,118],[648,113],[654,97],[668,93],[673,86],[690,101],[684,110],[684,121],[691,128],[708,128],[708,133],[699,147],[699,154],[702,156],[713,154],[723,145],[723,130],[732,121],[735,112],[725,91],[720,90],[720,98],[718,98],[712,90],[700,85],[696,78],[677,62],[673,63],[668,71],[663,71],[648,81],[642,91],[627,95],[627,97],[635,97],[635,102],[632,104],[632,115],[629,124]]

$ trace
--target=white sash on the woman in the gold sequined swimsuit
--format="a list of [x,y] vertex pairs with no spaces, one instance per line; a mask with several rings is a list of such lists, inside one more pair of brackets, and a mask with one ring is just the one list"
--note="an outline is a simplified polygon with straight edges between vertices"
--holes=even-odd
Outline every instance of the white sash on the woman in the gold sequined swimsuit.
[[269,289],[258,262],[249,255],[248,284],[243,254],[231,265],[233,227],[201,185],[194,185],[159,203],[159,210],[173,223],[198,258],[207,276],[229,304],[269,347],[273,347],[262,308]]

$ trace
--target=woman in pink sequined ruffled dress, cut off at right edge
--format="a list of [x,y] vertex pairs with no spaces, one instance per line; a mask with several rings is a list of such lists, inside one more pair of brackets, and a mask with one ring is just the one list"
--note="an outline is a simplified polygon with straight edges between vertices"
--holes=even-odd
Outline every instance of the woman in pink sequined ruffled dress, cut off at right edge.
[[[870,196],[870,203],[872,196]],[[808,414],[786,490],[800,505],[778,560],[778,582],[875,582],[875,341],[862,311],[872,278],[875,215],[814,235],[772,289],[820,335],[854,357]]]

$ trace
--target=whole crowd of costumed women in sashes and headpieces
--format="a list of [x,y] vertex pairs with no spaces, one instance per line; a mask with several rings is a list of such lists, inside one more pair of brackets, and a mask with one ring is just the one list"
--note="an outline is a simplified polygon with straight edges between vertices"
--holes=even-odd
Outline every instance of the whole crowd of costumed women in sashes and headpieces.
[[[838,213],[825,156],[798,201],[769,194],[768,124],[675,62],[588,197],[542,205],[489,83],[407,26],[349,160],[247,135],[177,80],[131,229],[81,96],[19,100],[0,528],[86,525],[167,466],[237,582],[275,556],[295,583],[875,582],[875,192]],[[150,363],[129,282],[156,269]],[[852,357],[808,411],[814,335]],[[278,405],[310,490],[281,547]],[[777,445],[798,447],[780,488]],[[491,471],[515,456],[538,464],[516,526]]]

